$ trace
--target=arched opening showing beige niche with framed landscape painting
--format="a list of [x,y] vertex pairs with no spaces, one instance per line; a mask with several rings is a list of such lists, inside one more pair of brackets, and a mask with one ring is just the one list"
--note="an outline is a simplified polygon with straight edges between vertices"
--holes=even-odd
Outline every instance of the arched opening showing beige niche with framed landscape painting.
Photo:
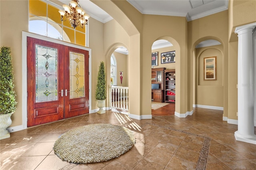
[[193,107],[224,110],[223,51],[224,47],[218,38],[201,38],[194,43]]

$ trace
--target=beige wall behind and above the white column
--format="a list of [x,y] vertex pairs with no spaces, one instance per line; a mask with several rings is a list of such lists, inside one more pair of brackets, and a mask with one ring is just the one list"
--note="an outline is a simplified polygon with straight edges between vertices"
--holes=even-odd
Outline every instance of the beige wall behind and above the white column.
[[255,0],[229,1],[229,32],[228,32],[228,113],[224,117],[238,119],[237,77],[238,77],[238,37],[234,33],[236,27],[256,22]]

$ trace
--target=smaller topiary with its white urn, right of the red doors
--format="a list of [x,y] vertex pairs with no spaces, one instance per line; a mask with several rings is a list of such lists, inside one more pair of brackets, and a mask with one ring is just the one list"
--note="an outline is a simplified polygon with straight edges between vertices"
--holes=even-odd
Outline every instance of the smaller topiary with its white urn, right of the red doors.
[[106,72],[105,72],[105,64],[103,61],[100,62],[98,77],[97,77],[97,85],[96,85],[96,100],[98,102],[97,107],[100,110],[97,112],[99,114],[105,113],[103,108],[105,107],[106,101]]

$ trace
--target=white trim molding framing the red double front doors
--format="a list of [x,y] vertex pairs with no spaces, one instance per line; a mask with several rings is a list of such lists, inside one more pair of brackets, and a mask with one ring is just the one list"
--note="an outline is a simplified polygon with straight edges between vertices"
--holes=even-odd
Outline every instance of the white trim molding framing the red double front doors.
[[[32,34],[29,32],[24,32],[22,31],[22,127],[23,129],[28,128],[27,125],[27,37],[32,37],[48,42],[53,42],[53,43],[58,43],[61,45],[66,45],[70,47],[75,47],[78,49],[84,49],[86,51],[89,51],[89,113],[92,112],[92,49],[60,40],[56,40],[53,38],[45,37],[45,36],[40,36],[37,34]],[[20,130],[23,130],[20,129]]]

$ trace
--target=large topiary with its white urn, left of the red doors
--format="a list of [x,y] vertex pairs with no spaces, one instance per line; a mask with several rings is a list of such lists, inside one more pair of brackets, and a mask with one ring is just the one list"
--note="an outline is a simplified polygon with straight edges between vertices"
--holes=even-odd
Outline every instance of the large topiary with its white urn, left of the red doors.
[[0,53],[0,139],[10,137],[6,130],[11,124],[11,115],[16,110],[14,75],[10,47],[1,47]]

